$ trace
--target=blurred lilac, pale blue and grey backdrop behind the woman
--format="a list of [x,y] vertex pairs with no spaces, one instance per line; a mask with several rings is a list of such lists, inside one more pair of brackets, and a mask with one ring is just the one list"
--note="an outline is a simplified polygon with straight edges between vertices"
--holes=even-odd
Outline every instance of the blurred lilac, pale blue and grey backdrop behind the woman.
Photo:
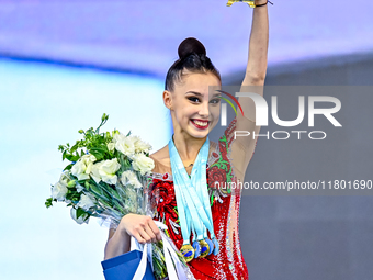
[[[327,147],[340,147],[336,153],[346,155],[357,179],[372,179],[373,2],[273,2],[265,85],[365,86],[359,101],[349,100],[354,111],[343,115],[355,137],[337,133],[329,146],[307,153],[326,156]],[[251,14],[247,4],[227,8],[224,0],[0,0],[0,279],[103,279],[108,229],[94,220],[79,226],[61,203],[44,206],[65,166],[58,145],[106,113],[105,130],[132,130],[154,152],[165,146],[172,132],[161,93],[180,42],[199,38],[223,83],[240,85]],[[365,130],[353,131],[362,117]],[[290,150],[296,159],[294,146],[280,153],[272,144],[258,142],[247,179],[296,172],[294,161],[283,160]],[[323,172],[338,175],[334,155]],[[323,163],[313,160],[318,178]],[[372,279],[372,202],[242,197],[250,279]]]

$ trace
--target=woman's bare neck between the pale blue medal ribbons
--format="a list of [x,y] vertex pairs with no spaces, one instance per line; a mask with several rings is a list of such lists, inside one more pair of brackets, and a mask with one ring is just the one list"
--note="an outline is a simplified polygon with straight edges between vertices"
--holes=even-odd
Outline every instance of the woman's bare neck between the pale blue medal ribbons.
[[181,160],[187,165],[193,164],[201,147],[206,142],[206,137],[194,138],[182,133],[174,133],[172,139]]

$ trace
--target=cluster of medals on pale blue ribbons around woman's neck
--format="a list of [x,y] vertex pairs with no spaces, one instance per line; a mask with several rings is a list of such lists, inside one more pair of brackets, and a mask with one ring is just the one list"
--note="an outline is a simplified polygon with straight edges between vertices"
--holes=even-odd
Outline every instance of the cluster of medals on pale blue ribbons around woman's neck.
[[[172,137],[169,141],[173,186],[183,237],[183,245],[180,251],[187,262],[193,258],[204,258],[212,253],[217,255],[219,250],[214,234],[214,224],[206,188],[208,148],[210,141],[208,137],[206,137],[195,159],[191,176],[189,177]],[[208,238],[207,231],[211,239]],[[192,245],[190,242],[191,233],[193,233]]]

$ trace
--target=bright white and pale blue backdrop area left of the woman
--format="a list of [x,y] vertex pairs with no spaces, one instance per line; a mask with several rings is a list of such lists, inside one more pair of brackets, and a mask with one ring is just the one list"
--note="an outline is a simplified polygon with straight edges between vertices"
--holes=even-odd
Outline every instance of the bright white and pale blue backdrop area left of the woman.
[[171,133],[163,81],[10,59],[0,79],[0,279],[103,279],[108,229],[95,219],[78,225],[61,202],[44,205],[66,165],[57,148],[102,113],[102,131],[132,130],[161,148]]

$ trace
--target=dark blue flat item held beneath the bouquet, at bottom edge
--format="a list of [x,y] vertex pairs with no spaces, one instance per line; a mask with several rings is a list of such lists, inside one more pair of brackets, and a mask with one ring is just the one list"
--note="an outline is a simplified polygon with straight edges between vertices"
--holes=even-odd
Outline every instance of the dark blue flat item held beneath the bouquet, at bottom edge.
[[[132,280],[142,260],[143,253],[132,250],[121,256],[106,259],[101,262],[103,275],[106,280]],[[147,261],[147,267],[143,280],[156,280],[151,271],[151,266]]]

